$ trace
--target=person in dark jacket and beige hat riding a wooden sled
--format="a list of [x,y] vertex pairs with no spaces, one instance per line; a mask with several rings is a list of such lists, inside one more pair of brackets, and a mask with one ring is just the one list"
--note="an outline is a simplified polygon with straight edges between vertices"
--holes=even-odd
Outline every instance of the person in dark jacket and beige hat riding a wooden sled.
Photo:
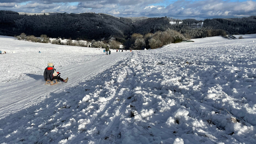
[[63,81],[65,83],[68,82],[68,77],[67,79],[62,79],[60,77],[60,73],[59,72],[56,72],[56,69],[54,68],[53,66],[53,63],[48,63],[47,64],[47,68],[44,69],[44,80],[47,81],[47,80],[60,80],[60,81]]

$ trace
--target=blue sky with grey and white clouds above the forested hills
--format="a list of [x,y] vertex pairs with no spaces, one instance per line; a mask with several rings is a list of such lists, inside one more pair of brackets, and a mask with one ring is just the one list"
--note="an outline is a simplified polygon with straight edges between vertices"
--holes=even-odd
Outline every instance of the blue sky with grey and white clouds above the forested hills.
[[0,10],[204,20],[256,15],[256,0],[1,0]]

